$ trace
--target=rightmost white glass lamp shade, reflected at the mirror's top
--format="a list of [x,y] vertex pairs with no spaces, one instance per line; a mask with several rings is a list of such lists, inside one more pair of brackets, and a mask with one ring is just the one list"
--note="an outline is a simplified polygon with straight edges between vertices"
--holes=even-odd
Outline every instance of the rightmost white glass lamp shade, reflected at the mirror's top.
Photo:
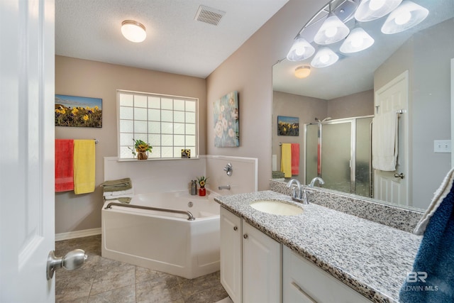
[[408,0],[389,14],[382,26],[382,33],[392,34],[406,31],[423,21],[428,15],[428,9]]

